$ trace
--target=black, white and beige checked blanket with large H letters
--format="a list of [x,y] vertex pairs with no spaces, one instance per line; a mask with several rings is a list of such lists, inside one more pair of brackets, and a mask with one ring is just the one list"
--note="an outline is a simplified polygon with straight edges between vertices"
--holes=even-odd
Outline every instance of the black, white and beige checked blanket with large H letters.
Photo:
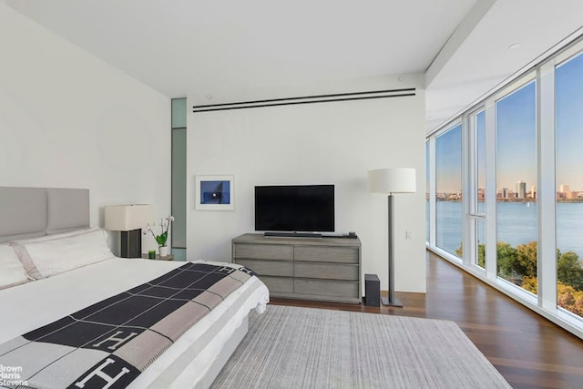
[[0,344],[0,384],[126,387],[252,275],[245,268],[188,262]]

